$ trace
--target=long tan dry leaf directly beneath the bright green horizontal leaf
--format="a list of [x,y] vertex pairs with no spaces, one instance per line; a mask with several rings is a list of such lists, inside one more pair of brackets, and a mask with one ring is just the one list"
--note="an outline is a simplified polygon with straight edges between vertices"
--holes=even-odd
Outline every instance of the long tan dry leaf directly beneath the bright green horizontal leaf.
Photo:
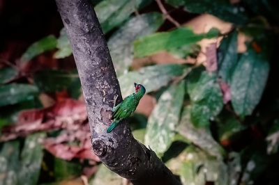
[[147,56],[145,58],[134,58],[131,67],[134,70],[140,69],[140,67],[151,65],[151,64],[167,64],[167,63],[187,63],[186,59],[176,58],[172,54],[167,53],[167,51],[161,51],[157,54]]

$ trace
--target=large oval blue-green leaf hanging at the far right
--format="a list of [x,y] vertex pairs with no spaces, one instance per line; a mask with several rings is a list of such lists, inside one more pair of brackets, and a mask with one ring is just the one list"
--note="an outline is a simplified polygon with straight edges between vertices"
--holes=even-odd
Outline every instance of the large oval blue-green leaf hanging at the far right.
[[232,106],[241,117],[250,115],[262,97],[269,75],[269,62],[263,53],[248,51],[239,58],[232,74]]

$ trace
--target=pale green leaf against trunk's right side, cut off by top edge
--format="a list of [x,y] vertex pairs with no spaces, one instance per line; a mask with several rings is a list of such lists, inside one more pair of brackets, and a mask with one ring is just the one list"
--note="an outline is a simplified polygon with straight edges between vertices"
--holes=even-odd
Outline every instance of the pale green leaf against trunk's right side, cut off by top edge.
[[107,33],[128,19],[137,8],[146,6],[150,2],[150,0],[105,0],[98,3],[94,10],[103,32]]

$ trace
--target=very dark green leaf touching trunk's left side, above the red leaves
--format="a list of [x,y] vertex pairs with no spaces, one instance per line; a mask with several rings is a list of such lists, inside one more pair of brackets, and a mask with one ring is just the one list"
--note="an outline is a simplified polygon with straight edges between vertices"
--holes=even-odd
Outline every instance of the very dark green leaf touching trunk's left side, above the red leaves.
[[81,86],[77,72],[43,70],[34,74],[34,83],[40,91],[53,93],[61,90],[75,90],[80,95]]

